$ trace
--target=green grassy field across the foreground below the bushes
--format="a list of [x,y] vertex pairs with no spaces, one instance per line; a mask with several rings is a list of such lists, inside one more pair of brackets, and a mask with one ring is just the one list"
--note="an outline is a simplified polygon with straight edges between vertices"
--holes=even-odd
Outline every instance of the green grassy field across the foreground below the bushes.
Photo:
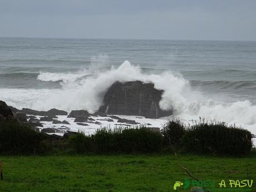
[[[174,191],[189,176],[173,155],[0,156],[0,191]],[[200,179],[256,179],[256,155],[213,157],[180,155]],[[252,191],[256,191],[254,180]],[[189,191],[178,189],[176,191]]]

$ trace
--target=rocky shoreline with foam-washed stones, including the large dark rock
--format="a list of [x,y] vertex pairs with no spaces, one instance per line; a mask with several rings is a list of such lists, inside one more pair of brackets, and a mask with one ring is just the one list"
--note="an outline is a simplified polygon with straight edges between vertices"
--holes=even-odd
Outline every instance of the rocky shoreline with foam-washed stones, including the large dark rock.
[[160,126],[166,122],[159,117],[173,114],[173,111],[160,109],[162,93],[163,91],[156,90],[152,83],[115,82],[105,93],[100,109],[93,114],[86,110],[71,112],[58,109],[37,111],[23,108],[20,110],[0,101],[0,121],[15,119],[29,124],[36,131],[59,136],[77,131],[92,134],[102,127],[143,125],[159,131]]

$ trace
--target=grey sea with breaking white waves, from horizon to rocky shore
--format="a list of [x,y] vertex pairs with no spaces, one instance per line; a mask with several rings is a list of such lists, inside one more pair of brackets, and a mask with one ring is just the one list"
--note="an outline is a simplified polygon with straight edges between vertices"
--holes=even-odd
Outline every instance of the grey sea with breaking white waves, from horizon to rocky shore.
[[95,111],[133,80],[185,119],[256,124],[256,42],[0,38],[0,100],[18,108]]

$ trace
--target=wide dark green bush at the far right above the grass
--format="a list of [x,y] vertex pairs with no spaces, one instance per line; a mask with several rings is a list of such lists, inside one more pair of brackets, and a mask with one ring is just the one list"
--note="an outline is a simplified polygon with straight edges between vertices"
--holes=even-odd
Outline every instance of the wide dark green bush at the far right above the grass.
[[242,155],[252,149],[252,134],[225,122],[200,121],[186,131],[183,144],[193,152]]

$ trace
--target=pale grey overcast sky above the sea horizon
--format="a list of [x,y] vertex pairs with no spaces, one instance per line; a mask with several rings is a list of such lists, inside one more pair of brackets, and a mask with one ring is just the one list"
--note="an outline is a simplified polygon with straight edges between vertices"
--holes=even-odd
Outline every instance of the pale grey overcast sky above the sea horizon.
[[0,0],[0,36],[256,41],[256,0]]

